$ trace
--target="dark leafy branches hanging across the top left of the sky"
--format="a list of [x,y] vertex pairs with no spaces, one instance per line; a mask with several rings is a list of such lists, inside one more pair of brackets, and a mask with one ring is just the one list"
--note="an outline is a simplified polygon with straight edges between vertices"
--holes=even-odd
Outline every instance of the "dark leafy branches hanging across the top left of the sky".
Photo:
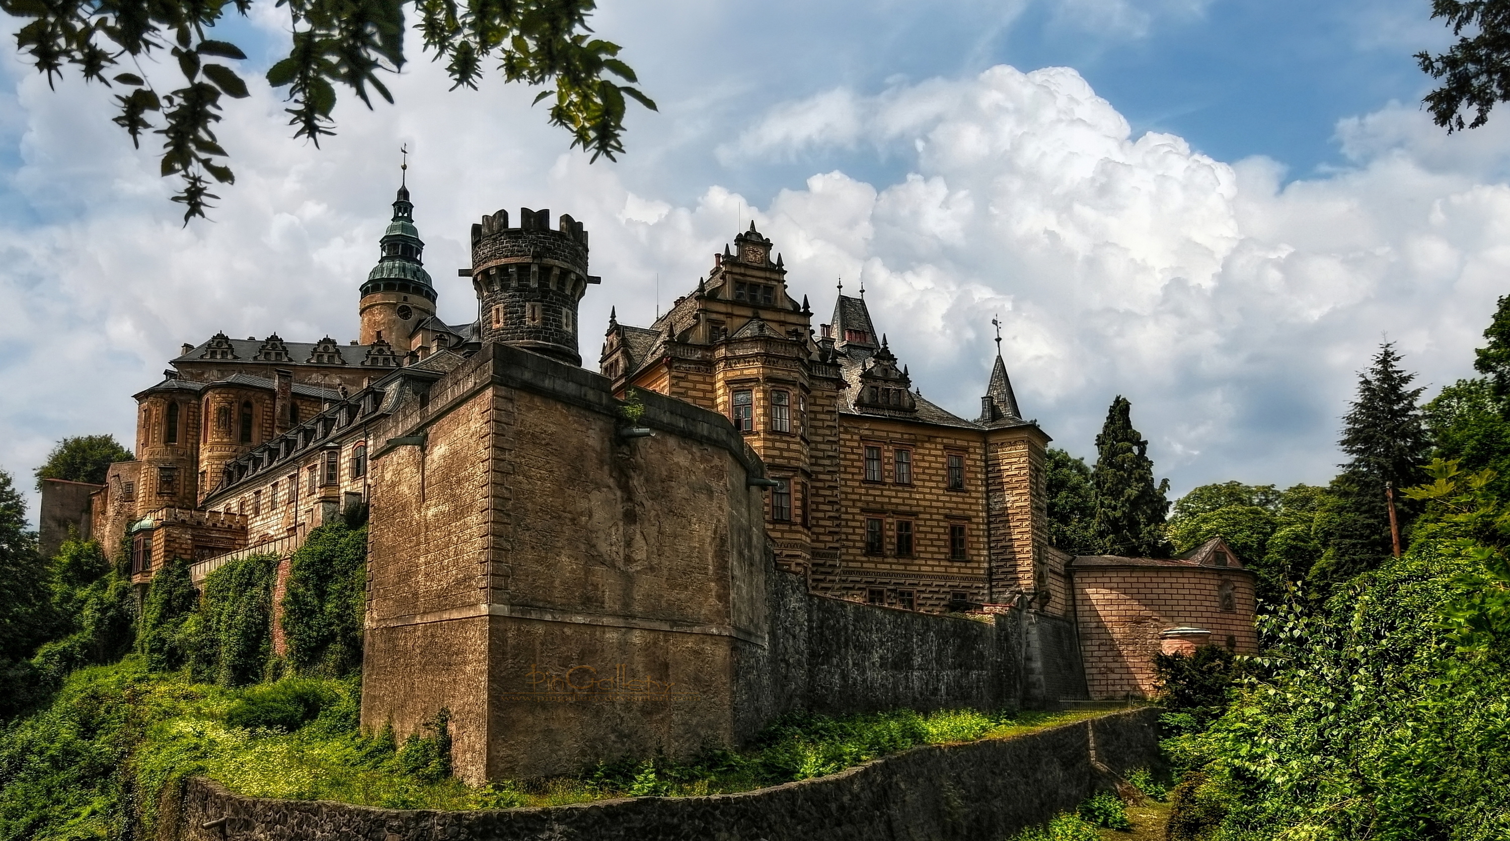
[[[267,0],[263,0],[267,2]],[[288,30],[288,53],[267,69],[267,83],[287,91],[294,137],[334,134],[331,112],[337,86],[367,107],[373,95],[393,103],[384,74],[405,65],[405,0],[278,0]],[[654,110],[634,85],[619,45],[592,36],[593,0],[512,0],[507,3],[414,0],[424,51],[445,62],[456,88],[477,88],[483,65],[498,62],[506,82],[553,85],[535,98],[550,100],[550,122],[572,136],[572,146],[609,160],[624,151],[628,100]],[[252,0],[157,0],[98,3],[91,0],[0,0],[0,11],[26,23],[17,45],[53,85],[72,66],[88,82],[119,94],[115,122],[137,146],[143,134],[160,134],[162,174],[180,177],[174,201],[184,204],[184,223],[204,216],[211,180],[233,183],[230,154],[214,124],[222,98],[249,95],[234,69],[246,54],[213,38],[228,14],[246,17]],[[168,59],[154,65],[154,59]],[[166,66],[178,80],[154,83],[148,68]]]

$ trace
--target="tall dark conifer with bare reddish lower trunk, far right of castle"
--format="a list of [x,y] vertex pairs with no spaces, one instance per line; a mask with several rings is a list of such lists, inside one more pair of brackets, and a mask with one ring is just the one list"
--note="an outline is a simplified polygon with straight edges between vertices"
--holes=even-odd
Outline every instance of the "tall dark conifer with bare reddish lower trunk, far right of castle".
[[1332,480],[1329,500],[1321,506],[1317,531],[1326,548],[1311,571],[1315,595],[1326,596],[1348,578],[1377,568],[1392,551],[1389,504],[1385,486],[1395,488],[1395,507],[1401,528],[1413,507],[1400,495],[1401,488],[1419,485],[1425,474],[1428,441],[1416,399],[1422,388],[1410,388],[1415,374],[1400,367],[1394,343],[1385,343],[1368,371],[1357,376],[1357,397],[1342,418],[1338,442],[1350,461]]

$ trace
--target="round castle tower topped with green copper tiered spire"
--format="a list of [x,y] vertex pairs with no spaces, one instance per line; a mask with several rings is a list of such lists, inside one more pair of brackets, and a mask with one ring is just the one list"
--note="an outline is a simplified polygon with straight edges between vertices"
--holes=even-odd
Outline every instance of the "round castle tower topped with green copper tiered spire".
[[362,344],[382,338],[400,353],[412,350],[409,337],[414,328],[435,314],[435,287],[420,260],[423,254],[424,242],[414,226],[409,189],[400,186],[393,202],[393,222],[379,240],[378,266],[362,284]]

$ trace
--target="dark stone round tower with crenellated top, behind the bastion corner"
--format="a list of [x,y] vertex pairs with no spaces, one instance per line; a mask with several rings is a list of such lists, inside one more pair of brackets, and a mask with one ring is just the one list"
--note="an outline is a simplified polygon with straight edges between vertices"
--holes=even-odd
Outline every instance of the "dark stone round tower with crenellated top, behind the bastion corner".
[[519,210],[509,226],[500,210],[473,225],[473,287],[483,341],[500,341],[581,364],[577,352],[577,302],[587,284],[587,233],[560,217],[551,230],[550,210]]

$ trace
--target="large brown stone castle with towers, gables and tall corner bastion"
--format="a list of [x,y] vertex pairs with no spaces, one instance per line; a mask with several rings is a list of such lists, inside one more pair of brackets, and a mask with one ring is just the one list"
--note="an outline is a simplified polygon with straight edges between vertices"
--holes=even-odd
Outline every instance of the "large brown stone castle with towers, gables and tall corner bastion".
[[[1256,649],[1253,575],[1220,541],[1049,545],[1049,436],[1000,338],[980,415],[957,417],[864,291],[814,325],[752,223],[648,328],[610,317],[592,373],[580,222],[482,217],[461,270],[479,319],[447,325],[408,189],[393,208],[358,340],[184,344],[134,396],[136,461],[86,527],[145,586],[175,557],[196,581],[246,554],[285,571],[311,528],[370,506],[364,722],[448,707],[468,779],[563,767],[542,738],[738,741],[803,704],[1148,696],[1157,651]],[[840,660],[871,673],[837,678]]]

